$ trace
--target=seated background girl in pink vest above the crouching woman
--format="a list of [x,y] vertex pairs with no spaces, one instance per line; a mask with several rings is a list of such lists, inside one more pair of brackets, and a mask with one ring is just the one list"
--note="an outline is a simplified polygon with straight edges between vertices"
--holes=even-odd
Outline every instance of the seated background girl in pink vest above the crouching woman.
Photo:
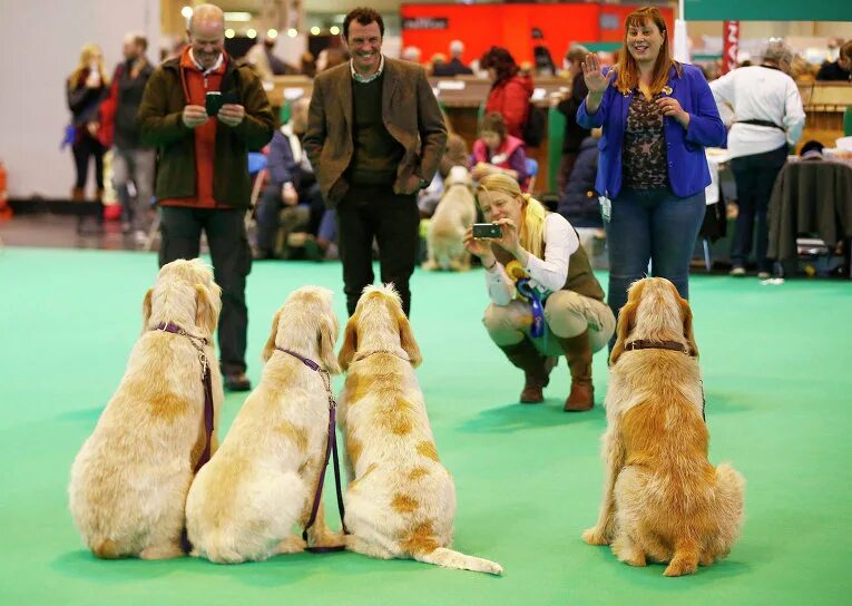
[[477,180],[486,175],[505,173],[518,182],[522,192],[528,189],[529,175],[523,141],[506,133],[506,121],[496,111],[482,116],[470,164],[470,176]]

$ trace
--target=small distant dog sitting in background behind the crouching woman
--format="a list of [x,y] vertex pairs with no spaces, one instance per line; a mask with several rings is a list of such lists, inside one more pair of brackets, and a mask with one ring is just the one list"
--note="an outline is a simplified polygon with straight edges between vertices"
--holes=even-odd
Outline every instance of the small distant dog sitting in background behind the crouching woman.
[[477,218],[473,180],[463,166],[453,166],[444,179],[444,193],[429,222],[429,258],[424,270],[470,270],[470,253],[464,248],[464,231]]

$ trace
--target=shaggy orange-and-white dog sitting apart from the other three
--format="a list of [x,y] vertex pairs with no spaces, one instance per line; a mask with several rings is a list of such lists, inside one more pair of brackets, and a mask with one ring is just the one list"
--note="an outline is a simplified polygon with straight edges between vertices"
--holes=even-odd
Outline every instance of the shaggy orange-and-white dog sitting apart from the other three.
[[743,477],[707,460],[689,304],[662,277],[635,282],[618,319],[606,395],[604,500],[582,538],[666,576],[724,558],[743,522]]

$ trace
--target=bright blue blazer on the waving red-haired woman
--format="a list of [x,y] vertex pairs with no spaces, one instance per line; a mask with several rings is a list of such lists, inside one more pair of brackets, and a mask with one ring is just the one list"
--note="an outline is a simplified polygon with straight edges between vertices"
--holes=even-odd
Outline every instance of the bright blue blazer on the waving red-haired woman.
[[[679,78],[674,67],[669,70],[668,86],[672,88],[672,97],[689,114],[689,126],[684,130],[677,120],[666,117],[664,134],[672,190],[678,197],[688,197],[709,185],[704,148],[719,147],[725,143],[725,125],[701,70],[686,63],[682,67]],[[600,156],[595,189],[610,199],[621,190],[621,141],[631,100],[633,92],[624,95],[615,84],[610,84],[595,114],[586,111],[585,99],[577,110],[577,124],[580,126],[604,127],[604,136],[598,143]]]

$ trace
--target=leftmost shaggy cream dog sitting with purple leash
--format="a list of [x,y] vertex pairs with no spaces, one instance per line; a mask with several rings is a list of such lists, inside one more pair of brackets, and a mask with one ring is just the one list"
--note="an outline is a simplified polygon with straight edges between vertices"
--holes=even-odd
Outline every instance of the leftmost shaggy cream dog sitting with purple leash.
[[[127,371],[71,468],[71,516],[99,558],[184,554],[186,493],[207,443],[202,358],[213,387],[210,452],[217,446],[221,307],[213,273],[197,258],[164,265],[145,295]],[[185,333],[158,330],[167,324]]]

